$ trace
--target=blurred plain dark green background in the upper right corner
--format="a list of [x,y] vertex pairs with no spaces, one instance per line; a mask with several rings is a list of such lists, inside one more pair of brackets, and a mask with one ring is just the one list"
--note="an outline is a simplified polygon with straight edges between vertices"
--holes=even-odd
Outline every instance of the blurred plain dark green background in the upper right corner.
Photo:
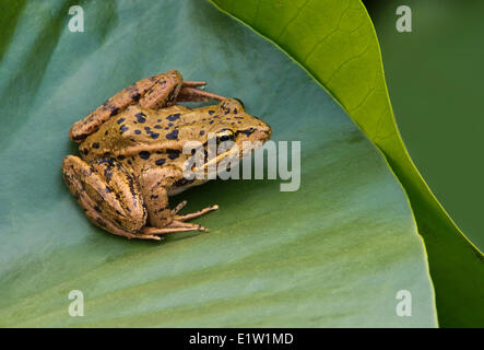
[[[415,165],[484,250],[484,1],[363,1],[375,23],[393,112]],[[399,5],[412,32],[399,33]]]

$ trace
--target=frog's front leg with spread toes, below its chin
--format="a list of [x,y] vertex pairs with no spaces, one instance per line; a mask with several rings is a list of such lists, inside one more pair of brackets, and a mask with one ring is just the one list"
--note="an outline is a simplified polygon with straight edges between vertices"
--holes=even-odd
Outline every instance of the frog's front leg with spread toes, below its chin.
[[182,177],[182,172],[174,166],[152,168],[143,173],[140,184],[143,198],[145,199],[149,223],[149,225],[143,229],[143,233],[165,234],[186,231],[208,231],[199,224],[187,223],[185,221],[216,210],[219,209],[217,206],[211,206],[196,213],[186,215],[178,215],[178,211],[182,209],[186,201],[178,205],[175,209],[169,208],[167,189],[176,186],[176,183]]

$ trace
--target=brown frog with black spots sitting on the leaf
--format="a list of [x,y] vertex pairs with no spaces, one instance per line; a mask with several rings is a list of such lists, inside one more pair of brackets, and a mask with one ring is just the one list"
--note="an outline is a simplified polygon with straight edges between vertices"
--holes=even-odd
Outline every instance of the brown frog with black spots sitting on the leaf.
[[[72,125],[69,138],[79,143],[80,156],[63,159],[62,177],[93,224],[129,240],[162,241],[168,233],[209,231],[189,221],[217,205],[187,214],[180,213],[186,200],[169,205],[169,197],[208,180],[184,175],[192,156],[184,145],[202,144],[203,168],[224,159],[209,160],[210,140],[231,141],[239,149],[247,141],[260,147],[272,131],[247,114],[240,100],[208,92],[205,85],[185,81],[177,70],[158,73],[121,90]],[[217,104],[210,105],[212,101]],[[188,107],[184,102],[204,104]],[[237,154],[240,160],[247,152]]]

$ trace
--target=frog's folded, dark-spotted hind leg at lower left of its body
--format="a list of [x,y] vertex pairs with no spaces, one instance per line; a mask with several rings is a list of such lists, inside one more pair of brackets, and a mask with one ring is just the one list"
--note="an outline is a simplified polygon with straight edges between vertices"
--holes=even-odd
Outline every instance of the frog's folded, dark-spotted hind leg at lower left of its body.
[[86,217],[97,226],[128,238],[160,240],[143,234],[146,210],[139,185],[111,159],[87,164],[74,155],[62,162],[62,175]]

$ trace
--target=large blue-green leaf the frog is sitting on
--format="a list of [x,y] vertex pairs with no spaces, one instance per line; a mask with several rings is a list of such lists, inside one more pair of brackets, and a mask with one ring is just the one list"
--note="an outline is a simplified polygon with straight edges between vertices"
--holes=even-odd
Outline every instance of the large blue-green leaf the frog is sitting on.
[[[273,45],[202,1],[0,9],[14,18],[0,75],[2,326],[436,326],[423,242],[381,154],[344,110]],[[0,21],[0,23],[4,23]],[[4,33],[4,31],[2,31]],[[93,226],[60,174],[67,135],[120,89],[178,69],[241,98],[300,141],[300,188],[213,180],[174,198],[206,234],[135,242]],[[353,80],[352,80],[353,82]],[[84,294],[71,317],[70,291]],[[396,314],[412,293],[412,317]]]

